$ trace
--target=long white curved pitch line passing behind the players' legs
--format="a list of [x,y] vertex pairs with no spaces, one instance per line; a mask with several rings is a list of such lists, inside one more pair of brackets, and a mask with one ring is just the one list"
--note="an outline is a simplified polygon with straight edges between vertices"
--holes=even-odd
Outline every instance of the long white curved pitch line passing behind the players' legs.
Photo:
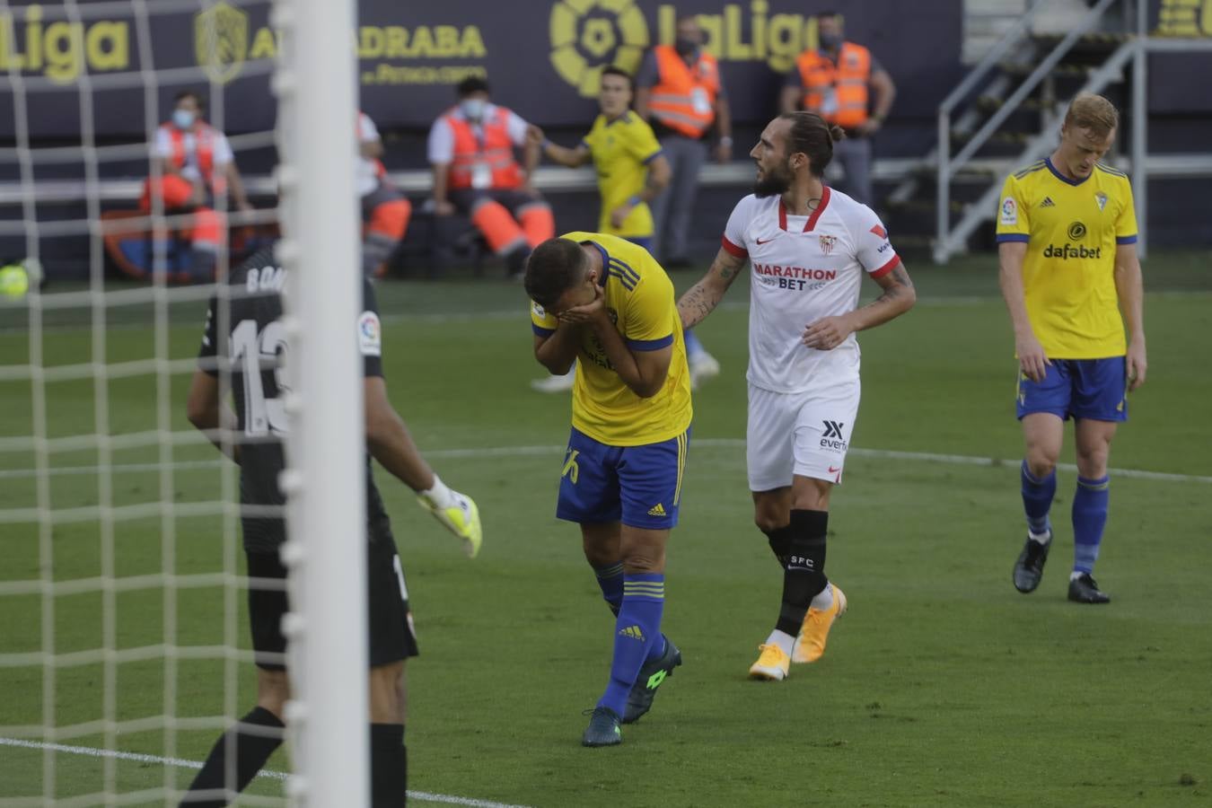
[[[744,448],[745,442],[739,437],[707,437],[701,440],[691,440],[692,449],[741,449]],[[481,448],[467,448],[467,449],[431,449],[423,452],[425,457],[430,458],[450,458],[450,459],[478,459],[478,458],[508,458],[508,457],[539,457],[547,454],[559,454],[565,451],[566,447],[558,445],[547,446],[492,446]],[[974,454],[938,454],[934,452],[902,452],[897,449],[867,449],[854,447],[851,448],[848,454],[861,458],[873,458],[879,460],[910,460],[919,463],[943,463],[947,465],[976,465],[976,466],[988,466],[991,469],[1008,466],[1017,469],[1022,459],[1002,459],[991,457],[981,457]],[[227,464],[227,460],[213,459],[213,460],[184,460],[181,463],[172,464],[175,470],[187,470],[187,469],[215,469],[221,465]],[[114,472],[138,472],[138,471],[159,471],[161,465],[159,463],[126,463],[126,464],[114,464],[109,466]],[[1063,471],[1077,471],[1077,466],[1071,463],[1059,463],[1057,468]],[[81,474],[97,474],[99,471],[98,466],[95,465],[79,465],[79,466],[62,466],[51,468],[48,474],[51,476],[57,475],[81,475]],[[1108,469],[1108,474],[1116,477],[1125,477],[1128,480],[1160,480],[1165,482],[1197,482],[1197,483],[1212,483],[1212,476],[1197,475],[1197,474],[1173,474],[1170,471],[1147,471],[1143,469]],[[34,477],[36,471],[34,469],[5,469],[0,470],[0,480],[12,480],[12,479],[24,479]]]

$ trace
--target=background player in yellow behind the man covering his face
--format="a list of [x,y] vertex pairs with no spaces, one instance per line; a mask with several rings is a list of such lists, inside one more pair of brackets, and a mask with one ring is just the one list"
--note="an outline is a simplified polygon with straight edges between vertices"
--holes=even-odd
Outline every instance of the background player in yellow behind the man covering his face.
[[[617,67],[602,70],[598,104],[601,114],[589,133],[573,149],[547,141],[542,131],[531,136],[542,142],[543,154],[562,166],[577,167],[593,161],[598,171],[601,211],[598,230],[633,241],[652,251],[652,211],[648,202],[669,184],[671,170],[661,151],[652,127],[631,111],[635,94],[629,73]],[[686,351],[694,380],[718,376],[720,363],[707,353],[693,332],[686,333]],[[536,390],[555,392],[572,386],[573,377],[554,376],[532,383]]]

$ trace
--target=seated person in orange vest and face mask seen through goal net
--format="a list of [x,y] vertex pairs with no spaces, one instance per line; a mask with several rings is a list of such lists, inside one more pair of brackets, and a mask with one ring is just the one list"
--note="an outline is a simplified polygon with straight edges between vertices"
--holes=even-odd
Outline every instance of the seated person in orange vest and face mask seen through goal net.
[[235,167],[231,145],[223,132],[202,119],[202,98],[193,90],[173,97],[172,120],[156,130],[152,157],[159,162],[160,176],[143,185],[139,210],[149,213],[159,199],[167,214],[189,212],[191,225],[182,230],[191,253],[189,275],[196,282],[215,277],[215,263],[223,243],[223,217],[213,210],[216,196],[227,194],[235,207],[252,210]]

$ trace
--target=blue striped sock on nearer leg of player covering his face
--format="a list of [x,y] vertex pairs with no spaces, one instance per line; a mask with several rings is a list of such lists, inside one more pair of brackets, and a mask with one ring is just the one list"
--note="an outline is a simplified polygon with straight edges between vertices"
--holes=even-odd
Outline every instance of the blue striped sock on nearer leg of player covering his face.
[[[605,591],[605,584],[602,590]],[[614,658],[610,667],[610,683],[598,701],[599,707],[610,707],[622,716],[640,667],[650,657],[664,652],[664,638],[661,636],[661,613],[664,607],[664,573],[623,575],[623,606],[614,621]]]

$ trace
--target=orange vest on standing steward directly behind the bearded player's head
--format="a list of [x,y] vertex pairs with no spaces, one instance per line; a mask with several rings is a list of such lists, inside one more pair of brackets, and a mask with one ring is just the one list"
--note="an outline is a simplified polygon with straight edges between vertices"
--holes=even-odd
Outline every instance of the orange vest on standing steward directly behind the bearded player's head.
[[652,118],[686,137],[703,137],[715,120],[715,97],[720,94],[715,57],[699,50],[694,64],[687,65],[673,45],[657,45],[652,52],[659,76],[648,97]]

